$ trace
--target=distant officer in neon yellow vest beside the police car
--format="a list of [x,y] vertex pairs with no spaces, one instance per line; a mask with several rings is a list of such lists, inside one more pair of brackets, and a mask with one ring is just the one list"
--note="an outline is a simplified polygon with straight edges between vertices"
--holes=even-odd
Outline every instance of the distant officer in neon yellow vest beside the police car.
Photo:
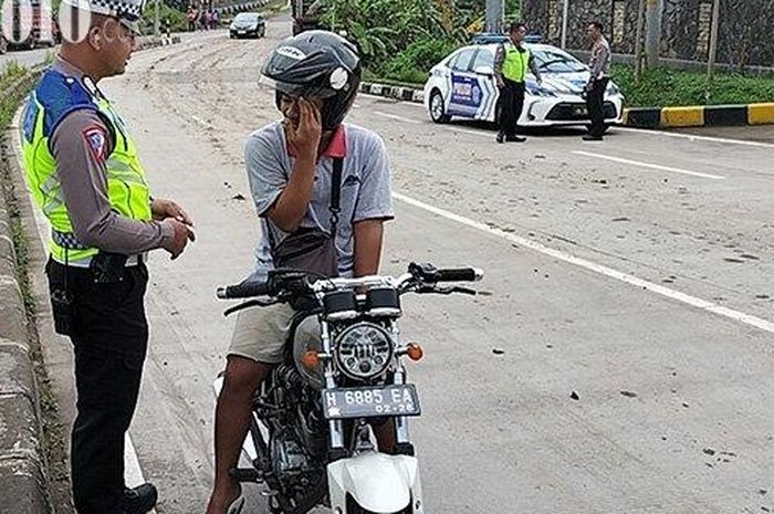
[[543,82],[535,59],[530,49],[523,45],[526,36],[526,25],[513,22],[509,28],[509,41],[498,48],[494,55],[494,78],[500,90],[500,132],[498,143],[524,143],[526,138],[519,136],[519,118],[524,109],[526,92],[527,66],[535,75],[537,84]]

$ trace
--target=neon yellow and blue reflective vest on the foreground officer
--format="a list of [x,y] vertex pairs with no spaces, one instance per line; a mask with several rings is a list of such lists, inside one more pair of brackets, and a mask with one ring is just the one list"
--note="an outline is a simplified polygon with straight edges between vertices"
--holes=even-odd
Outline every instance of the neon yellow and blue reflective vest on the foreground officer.
[[49,149],[56,124],[66,114],[80,108],[100,112],[115,136],[115,148],[105,161],[111,209],[134,220],[148,221],[153,218],[145,171],[134,140],[118,114],[109,102],[90,92],[81,81],[49,70],[27,101],[22,149],[25,178],[35,203],[49,219],[53,233],[61,235],[52,238],[50,244],[51,254],[60,262],[65,261],[65,248],[69,262],[83,261],[98,252],[95,248],[82,245],[73,233],[56,176],[56,162]]

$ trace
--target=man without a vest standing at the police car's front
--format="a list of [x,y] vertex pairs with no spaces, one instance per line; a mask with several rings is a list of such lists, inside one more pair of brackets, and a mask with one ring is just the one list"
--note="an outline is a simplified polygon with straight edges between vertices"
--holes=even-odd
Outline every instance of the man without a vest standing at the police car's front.
[[598,21],[588,24],[588,39],[594,43],[592,60],[588,64],[590,75],[586,84],[586,105],[592,118],[588,134],[583,136],[587,141],[600,141],[605,134],[605,91],[610,82],[610,44],[602,35],[603,25]]

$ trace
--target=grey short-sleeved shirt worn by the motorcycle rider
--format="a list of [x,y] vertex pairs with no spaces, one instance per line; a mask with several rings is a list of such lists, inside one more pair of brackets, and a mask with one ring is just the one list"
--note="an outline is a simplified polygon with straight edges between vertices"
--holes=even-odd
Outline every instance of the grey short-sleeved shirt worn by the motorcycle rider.
[[[345,124],[346,153],[342,170],[339,222],[336,228],[338,272],[352,276],[355,241],[353,224],[370,219],[391,219],[393,191],[387,149],[381,138],[363,127]],[[301,228],[331,231],[331,181],[333,157],[323,155],[315,170],[315,180]],[[261,237],[255,248],[257,268],[251,280],[262,280],[273,269],[271,241],[279,243],[287,232],[271,222],[266,212],[290,180],[295,159],[287,150],[282,123],[276,122],[254,132],[244,145],[244,161],[255,210],[261,219]],[[268,237],[271,231],[271,238]]]

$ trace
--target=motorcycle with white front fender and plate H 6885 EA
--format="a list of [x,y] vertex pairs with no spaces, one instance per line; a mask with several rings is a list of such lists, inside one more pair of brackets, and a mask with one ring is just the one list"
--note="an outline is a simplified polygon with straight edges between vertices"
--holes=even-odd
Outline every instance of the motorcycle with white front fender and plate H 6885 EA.
[[[400,339],[400,297],[474,295],[443,283],[482,277],[478,269],[412,263],[399,277],[274,270],[265,283],[220,287],[219,298],[250,298],[226,315],[286,302],[296,312],[284,361],[252,401],[242,448],[251,466],[232,469],[232,476],[263,483],[272,514],[305,514],[317,505],[335,514],[423,514],[408,428],[421,409],[402,365],[405,357],[421,359],[423,350]],[[216,394],[221,387],[219,377]],[[395,437],[389,454],[377,450],[372,434],[384,423]]]

